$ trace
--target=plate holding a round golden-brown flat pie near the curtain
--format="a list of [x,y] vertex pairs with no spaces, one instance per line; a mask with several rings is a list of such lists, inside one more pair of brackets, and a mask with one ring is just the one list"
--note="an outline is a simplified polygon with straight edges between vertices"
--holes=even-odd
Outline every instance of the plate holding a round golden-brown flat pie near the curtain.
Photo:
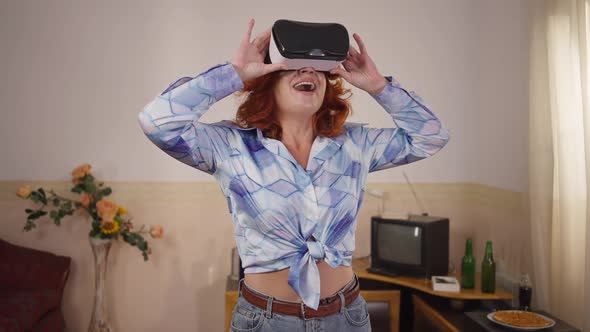
[[555,326],[553,319],[531,311],[500,310],[487,317],[496,324],[519,331],[538,331]]

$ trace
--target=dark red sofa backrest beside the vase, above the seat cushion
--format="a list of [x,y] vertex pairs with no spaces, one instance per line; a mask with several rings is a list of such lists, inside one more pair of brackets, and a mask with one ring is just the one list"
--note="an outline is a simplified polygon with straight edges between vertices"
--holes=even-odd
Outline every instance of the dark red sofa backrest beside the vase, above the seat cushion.
[[70,258],[0,239],[0,289],[61,289]]

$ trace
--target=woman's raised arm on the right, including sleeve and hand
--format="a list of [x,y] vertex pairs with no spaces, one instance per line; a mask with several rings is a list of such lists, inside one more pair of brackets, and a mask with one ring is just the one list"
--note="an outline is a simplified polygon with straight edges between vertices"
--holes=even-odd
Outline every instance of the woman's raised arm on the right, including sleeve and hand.
[[343,68],[333,69],[347,82],[367,91],[389,113],[397,128],[353,127],[348,135],[369,158],[369,172],[432,156],[449,140],[440,120],[413,92],[379,73],[362,39],[353,35],[359,50],[350,47]]

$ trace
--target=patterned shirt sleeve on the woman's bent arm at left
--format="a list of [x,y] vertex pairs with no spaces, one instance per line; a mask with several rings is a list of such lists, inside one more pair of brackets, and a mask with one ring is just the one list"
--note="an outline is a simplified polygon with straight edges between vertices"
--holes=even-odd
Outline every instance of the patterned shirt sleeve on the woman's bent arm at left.
[[199,122],[215,102],[243,87],[230,63],[173,82],[138,115],[146,136],[179,161],[215,173],[216,162],[228,156],[231,128]]

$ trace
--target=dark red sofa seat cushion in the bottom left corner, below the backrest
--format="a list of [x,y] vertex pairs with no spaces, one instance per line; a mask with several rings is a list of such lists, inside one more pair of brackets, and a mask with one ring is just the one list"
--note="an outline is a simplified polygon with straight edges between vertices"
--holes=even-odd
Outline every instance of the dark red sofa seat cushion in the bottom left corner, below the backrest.
[[11,318],[19,327],[30,330],[52,310],[60,310],[57,290],[0,290],[0,318]]

